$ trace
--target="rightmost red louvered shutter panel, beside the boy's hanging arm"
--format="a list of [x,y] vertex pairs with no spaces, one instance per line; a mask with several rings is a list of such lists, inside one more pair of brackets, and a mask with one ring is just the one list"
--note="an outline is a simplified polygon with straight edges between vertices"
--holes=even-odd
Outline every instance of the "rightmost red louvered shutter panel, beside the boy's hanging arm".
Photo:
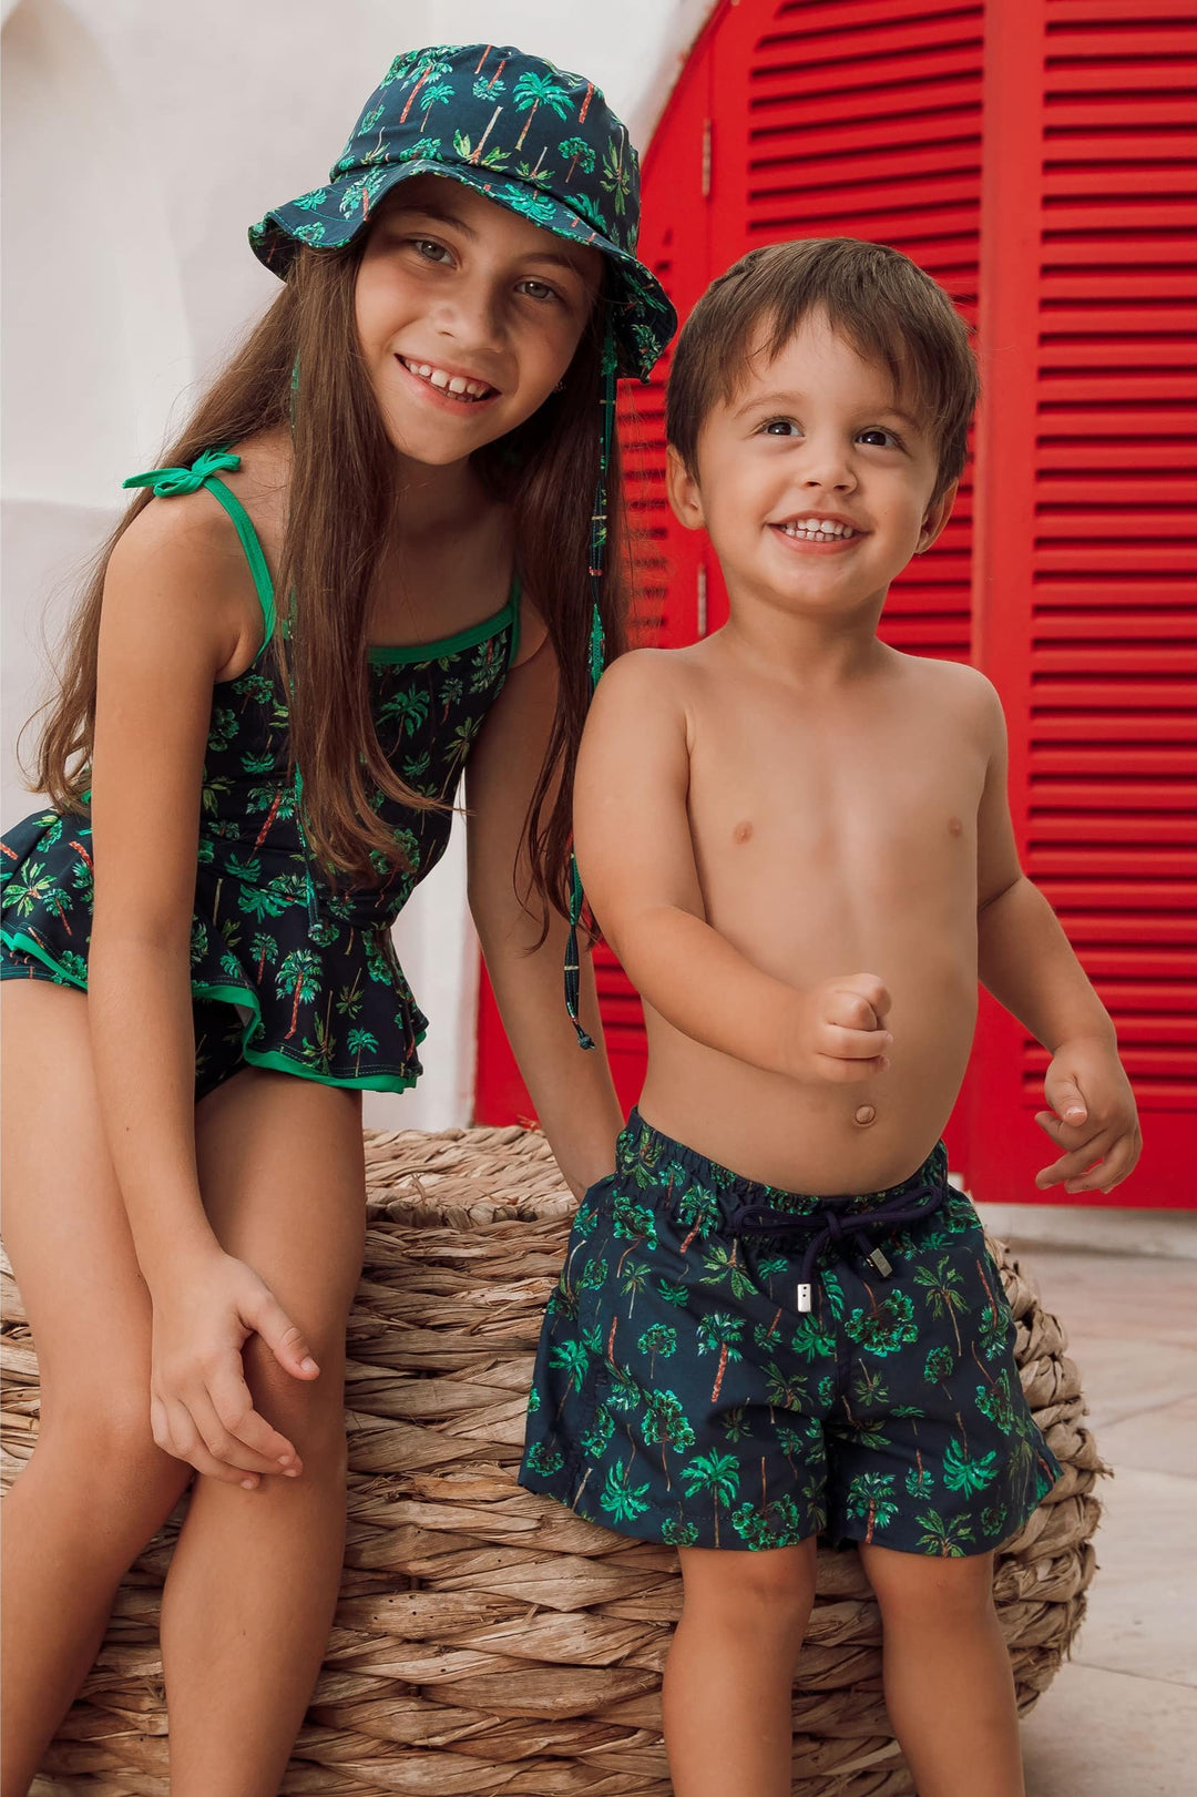
[[[1143,1114],[1143,1161],[1109,1202],[1188,1206],[1192,7],[1005,0],[989,63],[1010,153],[985,192],[980,661],[1006,704],[1024,866],[1116,1019]],[[965,1172],[983,1197],[1030,1197],[1046,1055],[987,1005],[978,1060]]]

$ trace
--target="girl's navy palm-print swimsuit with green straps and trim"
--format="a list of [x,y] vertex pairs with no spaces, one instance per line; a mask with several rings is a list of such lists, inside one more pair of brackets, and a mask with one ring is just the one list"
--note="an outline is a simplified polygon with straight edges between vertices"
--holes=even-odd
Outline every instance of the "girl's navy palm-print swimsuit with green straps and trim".
[[[196,1098],[241,1067],[325,1085],[404,1091],[426,1019],[395,958],[390,925],[444,854],[451,812],[374,796],[408,866],[376,888],[327,882],[307,855],[300,782],[289,771],[288,699],[270,656],[275,597],[248,514],[208,451],[191,469],[137,476],[158,496],[207,487],[232,518],[262,607],[253,665],[212,694],[191,927]],[[503,609],[453,638],[370,649],[370,703],[390,766],[415,791],[451,800],[485,715],[516,658],[519,588]],[[86,990],[92,825],[41,810],[0,843],[0,978]]]

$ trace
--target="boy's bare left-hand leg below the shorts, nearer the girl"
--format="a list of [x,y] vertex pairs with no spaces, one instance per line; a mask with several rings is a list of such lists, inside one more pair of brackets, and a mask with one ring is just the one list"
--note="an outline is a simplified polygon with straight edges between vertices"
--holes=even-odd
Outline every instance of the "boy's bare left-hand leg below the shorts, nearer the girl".
[[681,1578],[663,1689],[676,1797],[789,1797],[814,1538],[760,1553],[683,1547]]

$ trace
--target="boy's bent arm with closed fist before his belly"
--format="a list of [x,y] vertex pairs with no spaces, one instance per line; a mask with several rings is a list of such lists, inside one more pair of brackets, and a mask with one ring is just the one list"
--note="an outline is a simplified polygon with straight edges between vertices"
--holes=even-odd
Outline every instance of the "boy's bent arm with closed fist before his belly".
[[622,656],[598,683],[573,785],[579,870],[642,997],[676,1030],[791,1078],[863,1080],[890,1035],[870,974],[796,992],[706,924],[687,792],[683,683],[661,651]]

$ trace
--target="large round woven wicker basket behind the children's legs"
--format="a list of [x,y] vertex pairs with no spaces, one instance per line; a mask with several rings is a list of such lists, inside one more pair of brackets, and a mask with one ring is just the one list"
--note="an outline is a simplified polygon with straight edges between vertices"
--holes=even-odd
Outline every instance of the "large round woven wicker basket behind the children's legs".
[[[370,1229],[349,1326],[341,1603],[282,1793],[669,1797],[660,1675],[681,1599],[670,1549],[516,1486],[541,1312],[573,1200],[518,1129],[367,1141]],[[1077,1368],[1010,1254],[1017,1360],[1064,1466],[998,1563],[1019,1707],[1051,1680],[1093,1576],[1100,1463]],[[38,1364],[4,1269],[4,1483],[27,1459]],[[158,1598],[174,1518],[128,1574],[45,1793],[165,1797]],[[904,1797],[881,1628],[856,1554],[823,1553],[794,1687],[800,1797]]]

